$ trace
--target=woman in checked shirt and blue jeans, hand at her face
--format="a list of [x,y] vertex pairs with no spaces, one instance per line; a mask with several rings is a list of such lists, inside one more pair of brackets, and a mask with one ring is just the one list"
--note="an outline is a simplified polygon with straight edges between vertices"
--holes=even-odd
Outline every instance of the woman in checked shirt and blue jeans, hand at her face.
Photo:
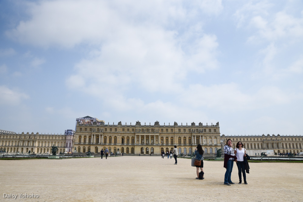
[[231,139],[228,139],[224,145],[224,154],[224,167],[226,168],[224,184],[230,186],[231,184],[235,184],[231,181],[231,171],[234,165],[234,160],[237,162],[237,157],[235,156],[232,148]]

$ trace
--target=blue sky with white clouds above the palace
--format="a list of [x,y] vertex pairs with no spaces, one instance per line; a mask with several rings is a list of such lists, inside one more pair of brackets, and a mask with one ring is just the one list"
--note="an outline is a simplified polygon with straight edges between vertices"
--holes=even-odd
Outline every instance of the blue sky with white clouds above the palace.
[[303,135],[303,1],[0,1],[0,129]]

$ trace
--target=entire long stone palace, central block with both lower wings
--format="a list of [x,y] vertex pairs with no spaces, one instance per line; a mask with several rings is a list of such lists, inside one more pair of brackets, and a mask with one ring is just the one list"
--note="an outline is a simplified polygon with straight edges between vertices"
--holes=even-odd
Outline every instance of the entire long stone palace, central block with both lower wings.
[[248,154],[263,151],[273,153],[302,152],[303,137],[301,135],[254,135],[254,136],[220,136],[219,122],[216,124],[105,124],[105,121],[89,116],[76,118],[74,130],[65,130],[64,134],[16,134],[12,131],[0,130],[0,149],[8,153],[51,153],[52,145],[58,147],[58,153],[88,151],[99,153],[108,148],[109,152],[119,151],[124,154],[160,154],[171,151],[177,145],[179,154],[191,154],[197,144],[201,144],[205,154],[217,153],[231,138],[233,145],[242,141]]

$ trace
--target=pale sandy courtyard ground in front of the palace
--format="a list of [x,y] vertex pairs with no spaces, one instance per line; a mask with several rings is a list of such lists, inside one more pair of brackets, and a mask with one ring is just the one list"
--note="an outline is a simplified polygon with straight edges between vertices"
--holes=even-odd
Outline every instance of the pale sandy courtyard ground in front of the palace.
[[[183,158],[178,165],[160,156],[0,161],[0,201],[303,201],[302,165],[250,163],[248,185],[226,186],[223,161],[204,161],[204,180]],[[236,164],[231,180],[238,183]]]

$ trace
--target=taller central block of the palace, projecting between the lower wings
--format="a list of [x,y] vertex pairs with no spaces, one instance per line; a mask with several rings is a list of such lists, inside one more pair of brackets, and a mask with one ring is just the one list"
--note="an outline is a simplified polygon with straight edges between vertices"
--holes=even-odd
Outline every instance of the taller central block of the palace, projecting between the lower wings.
[[197,144],[202,144],[205,153],[214,154],[221,148],[219,123],[215,125],[160,125],[154,124],[125,125],[105,124],[104,121],[89,116],[76,119],[76,152],[95,152],[108,148],[109,152],[125,154],[160,154],[171,151],[177,145],[179,154],[191,154]]

